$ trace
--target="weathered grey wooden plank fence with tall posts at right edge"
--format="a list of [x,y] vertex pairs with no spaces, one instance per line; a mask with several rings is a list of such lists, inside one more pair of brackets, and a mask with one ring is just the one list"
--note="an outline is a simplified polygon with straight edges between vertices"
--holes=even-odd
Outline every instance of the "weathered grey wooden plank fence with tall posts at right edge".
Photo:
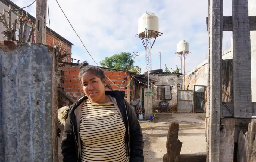
[[[244,137],[241,130],[245,133],[248,123],[256,113],[256,104],[251,100],[250,43],[250,30],[256,30],[256,16],[248,16],[248,0],[232,0],[232,16],[224,17],[223,0],[208,0],[208,2],[209,93],[205,120],[207,161],[254,162],[256,155],[251,156],[251,153],[252,148],[256,148],[255,140],[246,139],[247,135]],[[233,31],[233,84],[230,84],[233,87],[229,88],[233,88],[234,99],[228,104],[222,103],[223,31]],[[249,126],[249,134],[253,134],[252,132],[256,130],[254,123],[255,120]],[[241,133],[238,136],[239,132]],[[242,137],[248,142],[241,142]],[[238,148],[235,145],[237,142]],[[237,155],[239,158],[236,158]]]

